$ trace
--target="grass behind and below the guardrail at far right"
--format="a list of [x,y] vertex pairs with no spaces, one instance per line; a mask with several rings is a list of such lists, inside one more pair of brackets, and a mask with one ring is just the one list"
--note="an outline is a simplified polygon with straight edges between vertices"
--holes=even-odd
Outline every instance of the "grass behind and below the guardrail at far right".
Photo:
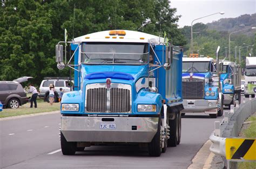
[[[248,118],[246,122],[251,123],[245,126],[245,129],[242,129],[241,136],[246,138],[256,138],[256,112],[254,112],[254,114],[250,118]],[[238,163],[238,168],[256,168],[256,162],[241,162]]]

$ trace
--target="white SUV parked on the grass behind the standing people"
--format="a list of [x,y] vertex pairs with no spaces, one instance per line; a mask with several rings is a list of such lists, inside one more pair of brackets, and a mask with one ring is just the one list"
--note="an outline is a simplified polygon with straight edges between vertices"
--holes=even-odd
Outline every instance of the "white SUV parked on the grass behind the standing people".
[[39,87],[38,97],[45,98],[46,100],[48,100],[47,97],[49,95],[50,84],[53,84],[55,86],[55,91],[57,91],[57,93],[55,94],[55,101],[58,100],[58,96],[60,95],[60,88],[64,89],[64,93],[72,91],[73,88],[73,81],[70,81],[69,77],[46,77],[41,82],[41,85]]

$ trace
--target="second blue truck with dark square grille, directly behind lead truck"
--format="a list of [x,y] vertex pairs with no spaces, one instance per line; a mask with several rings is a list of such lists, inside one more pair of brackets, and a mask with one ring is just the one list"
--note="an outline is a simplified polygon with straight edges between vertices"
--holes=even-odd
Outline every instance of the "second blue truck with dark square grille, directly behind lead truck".
[[219,77],[213,58],[183,58],[183,113],[203,112],[217,117],[221,109]]

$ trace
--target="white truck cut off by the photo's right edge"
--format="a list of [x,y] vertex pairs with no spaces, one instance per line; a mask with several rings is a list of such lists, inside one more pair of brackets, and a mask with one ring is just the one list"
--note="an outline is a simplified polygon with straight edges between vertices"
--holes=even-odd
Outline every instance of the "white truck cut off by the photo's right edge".
[[245,96],[256,93],[256,57],[246,57],[245,65]]

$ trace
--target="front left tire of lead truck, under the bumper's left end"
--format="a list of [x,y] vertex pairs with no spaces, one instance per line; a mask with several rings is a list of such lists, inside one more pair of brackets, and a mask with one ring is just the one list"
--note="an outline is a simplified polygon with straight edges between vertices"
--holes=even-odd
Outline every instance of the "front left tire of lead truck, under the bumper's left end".
[[62,132],[60,132],[60,145],[62,147],[63,155],[74,155],[76,153],[77,143],[67,142]]

